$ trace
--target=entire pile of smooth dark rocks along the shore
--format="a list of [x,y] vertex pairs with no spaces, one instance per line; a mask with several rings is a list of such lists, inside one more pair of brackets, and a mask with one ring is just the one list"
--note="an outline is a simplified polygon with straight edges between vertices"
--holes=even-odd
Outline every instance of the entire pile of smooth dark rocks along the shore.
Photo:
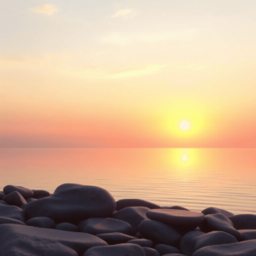
[[1,256],[256,256],[256,215],[123,199],[63,184],[0,191]]

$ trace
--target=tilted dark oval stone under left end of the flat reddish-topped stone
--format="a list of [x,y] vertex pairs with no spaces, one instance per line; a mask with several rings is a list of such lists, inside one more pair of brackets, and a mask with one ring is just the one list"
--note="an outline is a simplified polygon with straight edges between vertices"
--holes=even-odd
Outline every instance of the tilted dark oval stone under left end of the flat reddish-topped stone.
[[171,226],[160,221],[145,219],[138,226],[143,238],[166,245],[176,245],[181,235]]

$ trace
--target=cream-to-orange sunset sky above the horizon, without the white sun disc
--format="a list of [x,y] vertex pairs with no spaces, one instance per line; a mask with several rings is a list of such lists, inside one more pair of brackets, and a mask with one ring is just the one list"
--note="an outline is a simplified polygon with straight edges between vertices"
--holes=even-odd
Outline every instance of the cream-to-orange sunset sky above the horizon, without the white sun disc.
[[1,1],[0,148],[255,148],[255,9]]

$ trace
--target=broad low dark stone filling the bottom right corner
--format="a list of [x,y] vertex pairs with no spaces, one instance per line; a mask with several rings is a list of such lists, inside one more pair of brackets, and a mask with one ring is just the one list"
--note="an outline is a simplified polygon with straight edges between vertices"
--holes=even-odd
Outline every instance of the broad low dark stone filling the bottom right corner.
[[256,240],[202,247],[193,256],[254,256]]

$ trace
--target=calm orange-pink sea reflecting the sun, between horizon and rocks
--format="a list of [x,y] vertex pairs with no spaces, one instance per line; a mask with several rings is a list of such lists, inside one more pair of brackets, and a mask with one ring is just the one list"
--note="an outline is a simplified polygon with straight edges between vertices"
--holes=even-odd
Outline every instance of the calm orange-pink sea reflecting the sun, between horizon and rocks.
[[0,149],[0,177],[1,190],[81,183],[116,200],[256,214],[256,149]]

